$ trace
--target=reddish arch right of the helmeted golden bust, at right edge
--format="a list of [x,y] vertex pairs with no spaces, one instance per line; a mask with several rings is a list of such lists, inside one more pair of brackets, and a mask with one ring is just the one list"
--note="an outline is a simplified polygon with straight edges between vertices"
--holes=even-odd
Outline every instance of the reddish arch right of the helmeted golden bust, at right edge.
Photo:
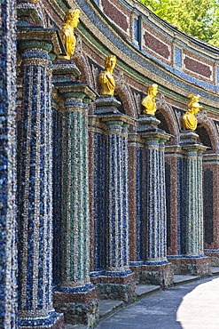
[[[198,127],[197,132],[199,134],[200,128],[204,128],[207,132],[207,136],[211,142],[212,149],[207,150],[207,153],[214,153],[219,154],[219,138],[218,138],[218,132],[216,131],[215,123],[212,119],[209,119],[207,117],[198,117]],[[199,136],[199,141],[204,143],[204,140],[202,140],[202,136]]]

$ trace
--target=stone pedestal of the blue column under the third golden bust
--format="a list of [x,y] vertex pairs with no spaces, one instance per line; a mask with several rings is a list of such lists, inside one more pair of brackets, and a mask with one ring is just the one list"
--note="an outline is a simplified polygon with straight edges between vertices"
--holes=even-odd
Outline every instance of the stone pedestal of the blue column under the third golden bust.
[[173,285],[172,264],[167,261],[160,261],[160,264],[153,264],[152,261],[140,266],[131,266],[130,269],[136,273],[139,285],[160,285],[162,289]]

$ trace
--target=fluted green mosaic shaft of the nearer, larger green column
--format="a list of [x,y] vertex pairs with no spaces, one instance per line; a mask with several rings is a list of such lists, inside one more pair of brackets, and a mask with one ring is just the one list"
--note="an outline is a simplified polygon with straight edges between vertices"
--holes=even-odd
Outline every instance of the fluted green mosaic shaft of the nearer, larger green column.
[[90,283],[90,228],[87,182],[87,113],[80,100],[66,105],[63,177],[62,286]]

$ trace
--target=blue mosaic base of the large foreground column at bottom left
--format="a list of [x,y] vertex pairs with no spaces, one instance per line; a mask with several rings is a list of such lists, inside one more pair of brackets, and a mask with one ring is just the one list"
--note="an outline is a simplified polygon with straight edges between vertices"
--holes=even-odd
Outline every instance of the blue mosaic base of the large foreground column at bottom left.
[[20,329],[65,329],[63,314],[52,312],[50,317],[30,319],[19,319]]

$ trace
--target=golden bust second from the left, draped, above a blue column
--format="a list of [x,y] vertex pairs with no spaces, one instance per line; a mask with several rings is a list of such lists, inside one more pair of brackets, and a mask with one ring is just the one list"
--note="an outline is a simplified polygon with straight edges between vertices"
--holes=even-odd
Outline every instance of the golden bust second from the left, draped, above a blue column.
[[98,76],[98,82],[101,84],[101,95],[111,95],[114,94],[115,83],[113,78],[113,69],[115,67],[116,57],[110,55],[106,57],[105,60],[105,70],[102,71]]

